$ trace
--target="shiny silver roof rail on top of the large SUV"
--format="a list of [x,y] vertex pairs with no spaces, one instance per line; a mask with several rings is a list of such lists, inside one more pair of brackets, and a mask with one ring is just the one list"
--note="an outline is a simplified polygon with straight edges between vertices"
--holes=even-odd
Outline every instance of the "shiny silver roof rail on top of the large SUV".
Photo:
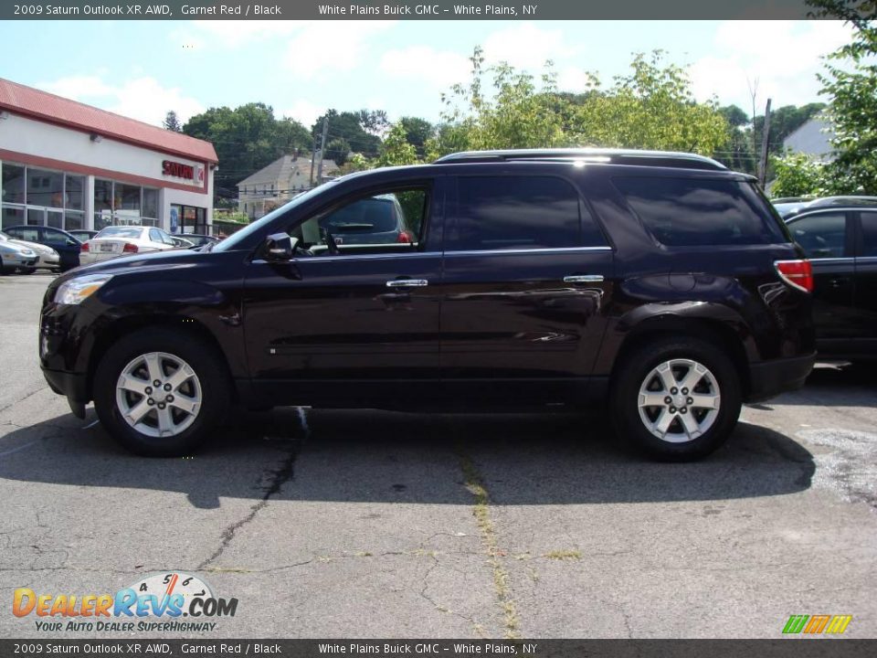
[[445,155],[435,164],[496,163],[496,162],[582,162],[636,164],[639,166],[712,169],[727,167],[704,155],[673,151],[638,151],[634,149],[555,148],[514,149],[507,151],[463,151]]

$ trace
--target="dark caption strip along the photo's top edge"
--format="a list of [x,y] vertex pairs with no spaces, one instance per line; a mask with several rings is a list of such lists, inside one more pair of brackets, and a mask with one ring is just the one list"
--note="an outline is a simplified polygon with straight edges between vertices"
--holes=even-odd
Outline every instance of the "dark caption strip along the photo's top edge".
[[625,3],[529,0],[26,0],[2,3],[4,20],[580,20],[806,18],[805,0],[629,0]]

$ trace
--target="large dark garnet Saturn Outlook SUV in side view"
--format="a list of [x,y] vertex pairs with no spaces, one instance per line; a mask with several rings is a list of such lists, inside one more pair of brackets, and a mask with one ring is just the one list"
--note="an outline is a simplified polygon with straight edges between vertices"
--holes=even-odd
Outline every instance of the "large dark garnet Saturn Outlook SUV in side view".
[[[374,199],[409,241],[326,221]],[[598,405],[619,437],[694,459],[742,402],[802,386],[811,283],[754,179],[708,158],[455,154],[344,176],[212,248],[59,277],[39,356],[74,413],[94,400],[146,455],[191,451],[236,402]]]

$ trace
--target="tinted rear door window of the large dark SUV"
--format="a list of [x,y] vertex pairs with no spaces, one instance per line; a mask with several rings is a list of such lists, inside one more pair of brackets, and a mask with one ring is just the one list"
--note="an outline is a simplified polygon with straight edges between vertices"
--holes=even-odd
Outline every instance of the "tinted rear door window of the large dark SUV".
[[[581,247],[579,202],[565,180],[534,176],[465,176],[449,251]],[[585,244],[606,244],[588,222]]]

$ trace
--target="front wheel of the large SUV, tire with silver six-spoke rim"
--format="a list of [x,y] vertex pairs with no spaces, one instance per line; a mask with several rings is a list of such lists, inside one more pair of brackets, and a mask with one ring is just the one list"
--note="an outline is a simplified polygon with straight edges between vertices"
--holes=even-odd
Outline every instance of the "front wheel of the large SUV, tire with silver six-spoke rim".
[[144,457],[191,454],[222,422],[230,397],[223,357],[191,334],[164,328],[122,338],[101,358],[94,376],[100,422],[122,446]]

